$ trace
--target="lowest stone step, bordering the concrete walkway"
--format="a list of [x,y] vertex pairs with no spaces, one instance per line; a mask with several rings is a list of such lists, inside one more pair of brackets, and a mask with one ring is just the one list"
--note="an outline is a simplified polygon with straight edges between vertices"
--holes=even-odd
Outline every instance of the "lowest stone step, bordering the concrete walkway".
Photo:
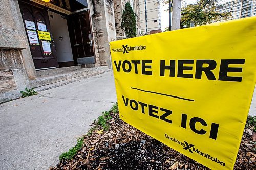
[[57,82],[57,83],[52,83],[52,84],[45,85],[45,86],[36,87],[35,90],[37,92],[49,90],[49,89],[56,88],[56,87],[59,87],[59,86],[63,86],[63,85],[69,84],[69,83],[73,83],[73,82],[76,82],[76,81],[79,81],[79,80],[82,80],[82,79],[86,79],[86,78],[89,78],[91,76],[96,76],[96,75],[99,75],[99,74],[102,74],[102,73],[108,72],[108,71],[112,71],[112,69],[105,69],[105,70],[93,72],[91,74],[87,74],[87,75],[84,75],[84,76],[80,76],[80,77],[60,81],[60,82]]

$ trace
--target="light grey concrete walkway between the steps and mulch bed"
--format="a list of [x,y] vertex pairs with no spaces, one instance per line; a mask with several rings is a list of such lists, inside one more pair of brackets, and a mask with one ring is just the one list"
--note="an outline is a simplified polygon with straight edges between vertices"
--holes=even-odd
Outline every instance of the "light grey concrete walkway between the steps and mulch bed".
[[48,169],[116,102],[112,71],[0,105],[0,169]]

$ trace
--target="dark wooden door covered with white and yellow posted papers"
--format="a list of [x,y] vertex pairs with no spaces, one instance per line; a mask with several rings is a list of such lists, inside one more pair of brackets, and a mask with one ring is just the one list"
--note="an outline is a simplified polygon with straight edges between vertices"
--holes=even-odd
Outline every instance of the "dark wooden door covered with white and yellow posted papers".
[[[51,34],[47,9],[45,7],[37,6],[37,4],[31,5],[20,1],[19,7],[20,12],[22,13],[35,68],[59,67],[52,35],[51,40],[39,39],[38,37],[38,31],[45,31]],[[28,25],[31,27],[28,28]],[[37,38],[33,37],[33,34],[35,34]]]

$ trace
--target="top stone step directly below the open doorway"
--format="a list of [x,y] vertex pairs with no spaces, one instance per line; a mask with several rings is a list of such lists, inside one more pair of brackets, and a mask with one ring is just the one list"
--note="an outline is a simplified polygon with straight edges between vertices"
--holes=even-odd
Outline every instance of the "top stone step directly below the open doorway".
[[45,70],[37,70],[36,77],[47,76],[47,75],[55,75],[61,72],[68,72],[81,69],[80,65],[71,66],[71,67],[61,67],[61,68],[54,68],[54,69],[45,69]]

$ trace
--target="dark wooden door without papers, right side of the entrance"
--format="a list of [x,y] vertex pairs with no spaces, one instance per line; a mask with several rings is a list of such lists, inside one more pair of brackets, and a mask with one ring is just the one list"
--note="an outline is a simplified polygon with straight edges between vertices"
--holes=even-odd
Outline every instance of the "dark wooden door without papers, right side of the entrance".
[[79,14],[73,14],[69,19],[69,31],[74,61],[77,64],[79,58],[93,58],[91,63],[95,63],[93,36],[89,10]]

